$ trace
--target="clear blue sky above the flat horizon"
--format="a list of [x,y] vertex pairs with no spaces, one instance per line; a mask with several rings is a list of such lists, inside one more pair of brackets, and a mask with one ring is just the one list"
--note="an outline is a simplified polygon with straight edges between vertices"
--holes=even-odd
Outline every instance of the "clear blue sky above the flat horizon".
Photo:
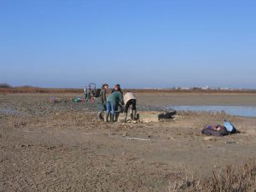
[[256,1],[0,0],[0,83],[256,89]]

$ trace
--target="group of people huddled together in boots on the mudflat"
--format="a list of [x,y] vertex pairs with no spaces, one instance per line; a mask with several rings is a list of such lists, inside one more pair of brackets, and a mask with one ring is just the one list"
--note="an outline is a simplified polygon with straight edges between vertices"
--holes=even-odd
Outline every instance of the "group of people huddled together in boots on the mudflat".
[[102,113],[106,111],[105,121],[113,122],[117,121],[119,113],[123,112],[125,107],[125,122],[127,119],[128,109],[131,106],[131,119],[136,119],[136,97],[131,91],[127,91],[123,94],[120,84],[115,84],[111,94],[107,96],[108,84],[102,84],[102,90],[97,97],[96,102],[98,104],[99,111],[97,113],[98,120],[104,120]]

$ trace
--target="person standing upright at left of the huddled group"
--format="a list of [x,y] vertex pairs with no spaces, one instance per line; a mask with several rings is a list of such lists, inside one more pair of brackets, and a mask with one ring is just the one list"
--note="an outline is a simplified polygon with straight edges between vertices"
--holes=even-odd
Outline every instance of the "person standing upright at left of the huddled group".
[[106,111],[107,109],[107,90],[108,90],[108,84],[102,84],[102,90],[100,92],[100,96],[96,98],[96,102],[99,110],[96,116],[98,120],[104,120],[102,117],[102,112]]

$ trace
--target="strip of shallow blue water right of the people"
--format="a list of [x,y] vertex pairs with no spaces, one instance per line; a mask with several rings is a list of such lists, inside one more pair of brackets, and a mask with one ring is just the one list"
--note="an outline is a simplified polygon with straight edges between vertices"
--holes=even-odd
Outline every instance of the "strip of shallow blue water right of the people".
[[230,115],[256,117],[256,107],[248,106],[169,106],[167,108],[173,108],[181,111],[207,111],[207,112],[222,112]]

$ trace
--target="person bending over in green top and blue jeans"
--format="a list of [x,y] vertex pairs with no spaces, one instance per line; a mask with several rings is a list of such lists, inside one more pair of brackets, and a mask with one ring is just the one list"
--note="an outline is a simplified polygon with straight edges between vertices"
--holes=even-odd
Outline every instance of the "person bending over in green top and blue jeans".
[[107,98],[107,113],[106,113],[106,121],[108,121],[109,114],[111,112],[110,121],[113,122],[117,120],[116,111],[119,105],[122,105],[123,95],[120,91],[113,91]]

